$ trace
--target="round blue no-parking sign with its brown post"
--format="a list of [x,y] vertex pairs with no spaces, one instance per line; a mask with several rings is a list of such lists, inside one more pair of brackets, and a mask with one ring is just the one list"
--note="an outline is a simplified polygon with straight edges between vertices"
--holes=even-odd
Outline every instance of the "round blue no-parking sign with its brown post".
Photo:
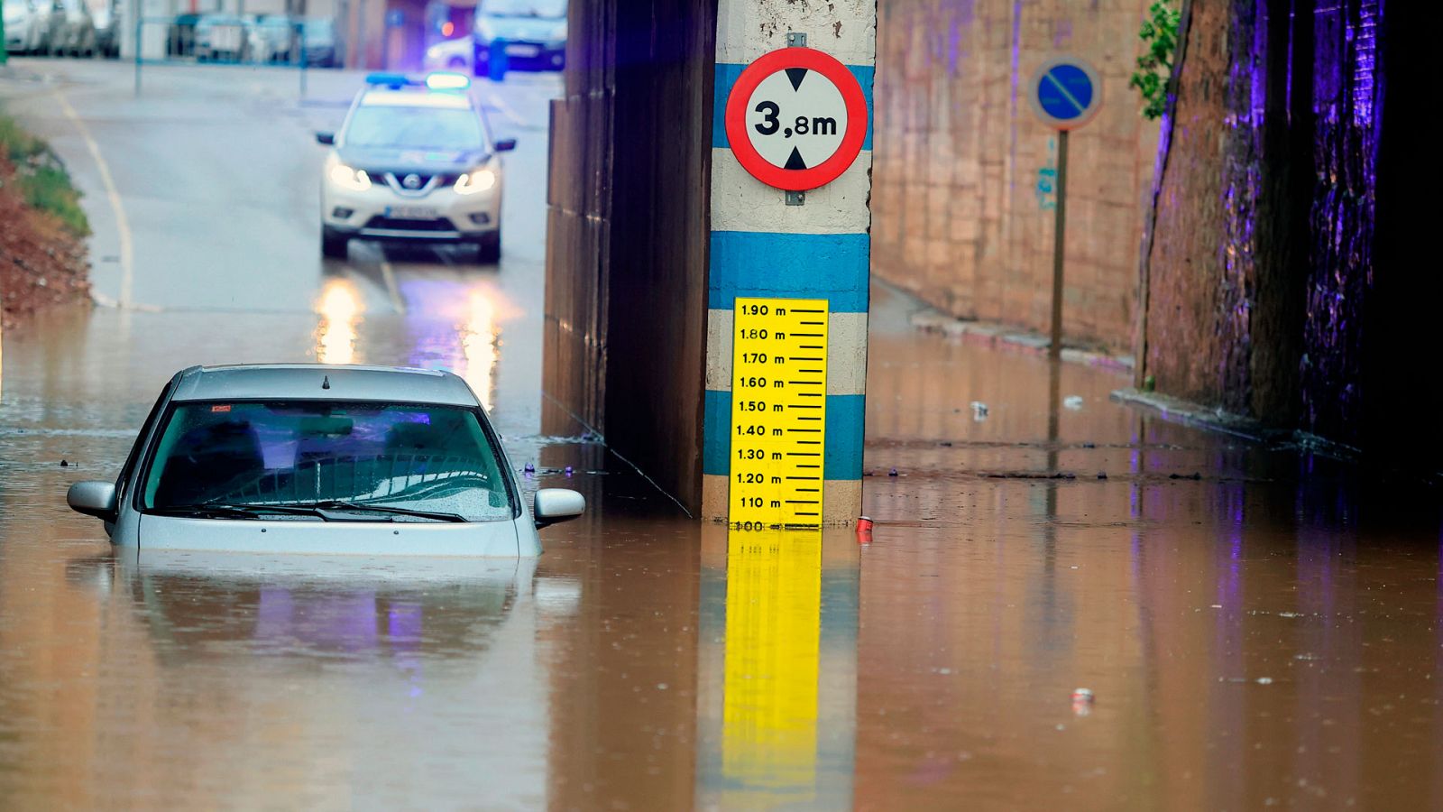
[[1102,82],[1087,62],[1049,59],[1032,78],[1029,100],[1042,121],[1058,130],[1058,207],[1052,234],[1052,341],[1048,353],[1062,355],[1062,266],[1068,224],[1068,133],[1087,124],[1102,103]]

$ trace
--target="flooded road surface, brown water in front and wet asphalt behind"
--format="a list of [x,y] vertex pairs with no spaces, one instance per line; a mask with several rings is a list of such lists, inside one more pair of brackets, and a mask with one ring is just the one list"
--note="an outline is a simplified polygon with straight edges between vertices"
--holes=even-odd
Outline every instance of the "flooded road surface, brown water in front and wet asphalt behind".
[[[916,334],[879,288],[874,540],[729,537],[538,436],[554,78],[483,88],[521,140],[498,269],[320,262],[310,130],[355,77],[297,103],[278,71],[156,69],[134,100],[124,66],[20,65],[55,81],[0,97],[131,306],[0,344],[0,808],[1443,808],[1436,491]],[[439,569],[133,561],[65,509],[176,368],[313,358],[460,371],[592,511],[537,562]]]

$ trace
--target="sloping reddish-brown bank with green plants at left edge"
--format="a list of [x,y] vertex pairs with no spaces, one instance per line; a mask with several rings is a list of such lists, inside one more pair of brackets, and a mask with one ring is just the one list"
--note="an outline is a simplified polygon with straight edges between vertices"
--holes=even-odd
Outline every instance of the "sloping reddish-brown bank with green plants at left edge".
[[59,156],[0,113],[0,324],[89,301],[89,233]]

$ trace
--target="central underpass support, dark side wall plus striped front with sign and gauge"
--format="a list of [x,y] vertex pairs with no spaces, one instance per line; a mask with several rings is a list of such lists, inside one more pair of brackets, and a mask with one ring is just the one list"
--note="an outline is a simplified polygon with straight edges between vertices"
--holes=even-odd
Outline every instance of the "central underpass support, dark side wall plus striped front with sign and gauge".
[[[874,0],[573,0],[569,25],[543,429],[600,432],[693,516],[727,519],[745,498],[765,524],[848,522]],[[742,302],[766,318],[742,324]],[[763,379],[755,397],[734,386]],[[742,420],[739,402],[755,413]]]

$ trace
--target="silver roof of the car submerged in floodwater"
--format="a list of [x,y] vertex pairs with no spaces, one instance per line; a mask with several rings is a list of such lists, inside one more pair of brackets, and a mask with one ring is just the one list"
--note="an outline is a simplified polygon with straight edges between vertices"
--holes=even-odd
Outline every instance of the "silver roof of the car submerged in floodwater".
[[190,367],[172,400],[368,400],[476,407],[459,376],[439,370],[339,364]]

